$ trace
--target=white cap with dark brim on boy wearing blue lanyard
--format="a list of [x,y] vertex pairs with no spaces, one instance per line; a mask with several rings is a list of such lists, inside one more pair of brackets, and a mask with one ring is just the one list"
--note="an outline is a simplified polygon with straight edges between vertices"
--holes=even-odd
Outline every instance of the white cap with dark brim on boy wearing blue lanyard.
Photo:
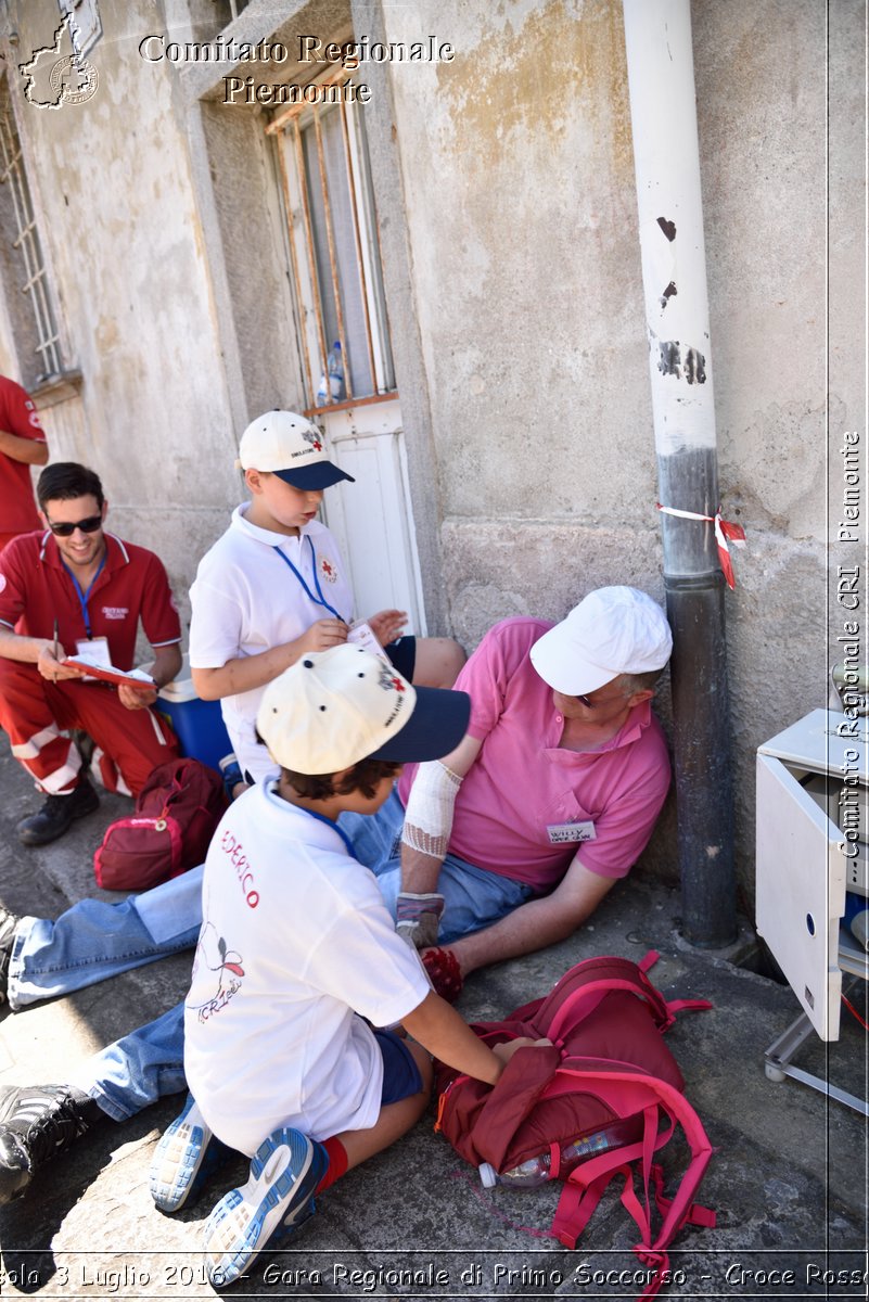
[[325,437],[295,411],[265,411],[247,426],[235,465],[242,470],[268,470],[294,488],[328,488],[353,475],[329,461]]

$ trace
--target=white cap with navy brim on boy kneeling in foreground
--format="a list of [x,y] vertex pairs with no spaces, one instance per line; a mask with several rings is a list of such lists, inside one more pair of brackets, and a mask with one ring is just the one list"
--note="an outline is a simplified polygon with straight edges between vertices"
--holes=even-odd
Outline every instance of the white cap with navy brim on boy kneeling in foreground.
[[345,642],[310,651],[269,682],[256,728],[295,773],[338,773],[360,759],[440,759],[464,736],[464,691],[412,687],[382,656]]

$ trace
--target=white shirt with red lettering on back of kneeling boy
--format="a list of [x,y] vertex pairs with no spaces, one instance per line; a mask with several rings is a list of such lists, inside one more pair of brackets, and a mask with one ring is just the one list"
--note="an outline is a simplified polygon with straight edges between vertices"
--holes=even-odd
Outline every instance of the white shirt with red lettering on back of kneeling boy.
[[252,1155],[272,1130],[372,1126],[382,1059],[363,1022],[399,1022],[428,979],[373,874],[333,823],[260,783],[215,833],[185,1001],[185,1072],[206,1121]]

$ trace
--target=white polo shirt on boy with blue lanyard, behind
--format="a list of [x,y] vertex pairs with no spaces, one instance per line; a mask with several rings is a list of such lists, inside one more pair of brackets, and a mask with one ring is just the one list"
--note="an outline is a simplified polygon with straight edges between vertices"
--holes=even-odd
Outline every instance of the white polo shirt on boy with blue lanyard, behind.
[[[190,589],[194,669],[220,669],[228,660],[294,642],[317,620],[332,618],[333,611],[347,622],[353,617],[349,575],[325,525],[311,521],[298,538],[287,538],[251,525],[245,518],[248,506],[235,508],[226,533],[200,560]],[[263,776],[263,764],[273,771],[255,738],[264,690],[224,697],[220,703],[242,768],[259,759],[258,771],[251,769],[255,779]]]

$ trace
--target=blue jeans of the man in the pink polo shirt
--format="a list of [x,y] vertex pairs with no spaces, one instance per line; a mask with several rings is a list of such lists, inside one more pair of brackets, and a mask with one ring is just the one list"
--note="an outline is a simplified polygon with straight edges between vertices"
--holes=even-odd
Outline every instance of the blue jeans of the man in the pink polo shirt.
[[[393,790],[377,814],[342,814],[340,819],[356,857],[376,874],[393,917],[401,883],[403,816]],[[121,904],[82,900],[56,922],[23,918],[9,962],[10,1008],[66,995],[193,948],[202,924],[202,867],[191,868]],[[444,861],[437,885],[446,900],[441,922],[444,944],[490,926],[532,894],[529,887],[453,854]],[[186,1088],[183,1004],[95,1053],[72,1083],[96,1099],[116,1121],[156,1103],[164,1094]]]

